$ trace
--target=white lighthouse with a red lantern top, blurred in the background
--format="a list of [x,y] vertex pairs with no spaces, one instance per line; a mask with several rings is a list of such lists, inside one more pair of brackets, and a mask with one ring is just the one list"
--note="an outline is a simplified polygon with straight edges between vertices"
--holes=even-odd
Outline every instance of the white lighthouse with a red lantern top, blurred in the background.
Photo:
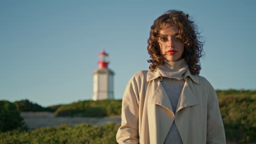
[[108,69],[108,53],[98,54],[98,69],[93,73],[92,100],[114,99],[114,72]]

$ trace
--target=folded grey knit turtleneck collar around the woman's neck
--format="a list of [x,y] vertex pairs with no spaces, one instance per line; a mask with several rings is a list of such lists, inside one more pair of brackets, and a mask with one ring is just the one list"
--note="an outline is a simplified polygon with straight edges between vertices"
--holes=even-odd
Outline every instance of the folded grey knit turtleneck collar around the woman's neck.
[[182,80],[188,69],[188,64],[184,58],[174,62],[165,60],[165,64],[156,67],[156,69],[162,76]]

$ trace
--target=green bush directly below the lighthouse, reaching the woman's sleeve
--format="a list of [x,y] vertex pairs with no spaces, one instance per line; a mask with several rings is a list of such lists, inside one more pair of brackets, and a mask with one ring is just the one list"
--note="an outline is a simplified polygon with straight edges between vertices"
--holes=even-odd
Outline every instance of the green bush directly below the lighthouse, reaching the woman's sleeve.
[[85,100],[61,105],[55,116],[105,117],[121,115],[121,100]]

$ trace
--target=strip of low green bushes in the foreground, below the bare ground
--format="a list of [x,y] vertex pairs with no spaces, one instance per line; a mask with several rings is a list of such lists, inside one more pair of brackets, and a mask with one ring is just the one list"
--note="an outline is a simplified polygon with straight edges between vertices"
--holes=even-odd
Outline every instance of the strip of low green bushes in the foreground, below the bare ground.
[[1,144],[18,143],[117,143],[115,135],[119,125],[108,123],[101,127],[90,124],[80,124],[74,128],[68,125],[59,127],[39,128],[32,131],[13,130],[6,133],[0,133]]

